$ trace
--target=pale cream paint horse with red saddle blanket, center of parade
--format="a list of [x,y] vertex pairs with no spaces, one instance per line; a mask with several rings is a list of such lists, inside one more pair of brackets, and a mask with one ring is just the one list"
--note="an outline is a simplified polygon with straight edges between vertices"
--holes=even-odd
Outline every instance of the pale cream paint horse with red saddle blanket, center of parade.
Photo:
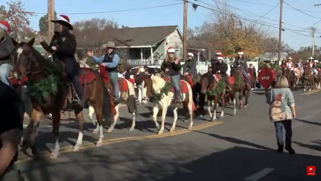
[[[172,87],[170,92],[161,93],[163,92],[168,84],[167,82],[170,81],[170,78],[162,78],[158,76],[151,75],[150,76],[151,82],[152,82],[152,90],[155,95],[159,96],[159,100],[156,100],[156,102],[153,103],[153,121],[155,123],[155,126],[157,129],[159,129],[159,124],[157,123],[157,113],[159,109],[163,109],[162,111],[162,126],[158,130],[158,134],[162,134],[164,132],[164,123],[166,118],[166,113],[168,107],[172,104],[172,101],[174,99],[174,88]],[[183,107],[186,111],[186,119],[190,118],[190,124],[188,126],[188,129],[191,129],[193,126],[193,111],[196,110],[193,98],[192,98],[192,88],[189,83],[187,83],[184,80],[180,81],[180,87],[183,97]],[[163,89],[164,88],[164,89]],[[158,97],[157,96],[157,97]],[[174,122],[172,125],[172,128],[170,129],[170,132],[175,130],[176,121],[177,121],[177,108],[178,105],[174,103]]]

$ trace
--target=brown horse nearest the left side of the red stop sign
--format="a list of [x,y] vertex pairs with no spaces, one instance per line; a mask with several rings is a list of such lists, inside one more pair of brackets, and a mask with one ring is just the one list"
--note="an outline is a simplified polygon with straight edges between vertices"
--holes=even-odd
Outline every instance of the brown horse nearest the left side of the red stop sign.
[[242,80],[242,70],[241,67],[234,67],[231,70],[231,75],[234,79],[234,84],[231,85],[231,91],[229,92],[229,96],[230,99],[233,101],[233,116],[235,116],[236,114],[236,92],[239,92],[239,100],[240,100],[240,105],[239,108],[241,109],[243,106],[243,97],[245,96],[245,104],[244,107],[247,107],[248,105],[248,99],[250,96],[250,90],[248,90],[247,86],[246,86],[246,82],[245,82],[245,78],[244,80]]

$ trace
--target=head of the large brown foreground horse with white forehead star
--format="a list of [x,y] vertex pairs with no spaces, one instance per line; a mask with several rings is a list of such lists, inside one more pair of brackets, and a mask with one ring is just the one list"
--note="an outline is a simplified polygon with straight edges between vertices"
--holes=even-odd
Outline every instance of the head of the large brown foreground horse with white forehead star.
[[33,44],[35,39],[33,38],[31,41],[21,42],[18,44],[15,42],[16,45],[16,54],[14,57],[14,76],[17,80],[21,80],[23,77],[28,76],[31,71],[33,62],[33,54],[35,49],[33,48]]

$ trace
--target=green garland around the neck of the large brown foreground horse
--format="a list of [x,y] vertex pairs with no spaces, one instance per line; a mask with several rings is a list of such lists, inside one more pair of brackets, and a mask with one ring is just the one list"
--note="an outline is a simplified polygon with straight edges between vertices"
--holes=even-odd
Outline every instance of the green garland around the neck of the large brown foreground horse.
[[46,66],[47,78],[27,86],[28,95],[43,103],[50,95],[56,95],[58,88],[63,86],[63,70],[59,63],[49,63]]

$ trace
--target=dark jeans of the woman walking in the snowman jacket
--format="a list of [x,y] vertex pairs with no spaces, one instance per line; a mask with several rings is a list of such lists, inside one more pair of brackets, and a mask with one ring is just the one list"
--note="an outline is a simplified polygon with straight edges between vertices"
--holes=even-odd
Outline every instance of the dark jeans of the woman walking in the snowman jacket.
[[291,147],[292,120],[284,120],[284,121],[274,122],[277,144],[284,145],[283,144],[282,125],[284,126],[284,129],[285,129],[285,147]]

